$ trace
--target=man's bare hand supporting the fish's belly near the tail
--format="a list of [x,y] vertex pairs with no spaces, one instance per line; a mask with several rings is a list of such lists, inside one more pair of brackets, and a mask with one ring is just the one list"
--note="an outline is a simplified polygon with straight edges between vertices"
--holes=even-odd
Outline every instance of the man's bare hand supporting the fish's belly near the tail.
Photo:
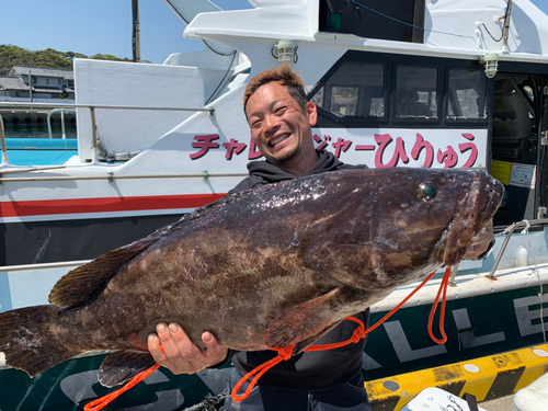
[[148,336],[148,350],[155,361],[173,374],[194,374],[201,369],[224,362],[228,350],[220,346],[210,332],[202,334],[206,349],[201,350],[192,343],[181,326],[159,323],[158,334]]

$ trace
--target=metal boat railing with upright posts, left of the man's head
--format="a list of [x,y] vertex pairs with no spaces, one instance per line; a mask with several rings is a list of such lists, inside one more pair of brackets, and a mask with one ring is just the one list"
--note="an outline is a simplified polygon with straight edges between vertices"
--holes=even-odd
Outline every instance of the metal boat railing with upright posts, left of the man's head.
[[[212,106],[201,107],[201,109],[184,109],[184,107],[146,107],[146,106],[135,106],[135,105],[105,105],[105,104],[59,104],[59,103],[33,103],[33,102],[0,102],[0,109],[52,109],[54,110],[76,110],[76,109],[88,109],[91,116],[91,128],[92,128],[92,163],[99,162],[99,137],[98,127],[95,119],[96,110],[140,110],[140,111],[164,111],[164,112],[205,112],[209,113],[210,116],[214,115],[215,109]],[[62,112],[61,112],[62,113]],[[9,164],[8,159],[8,148],[5,146],[5,134],[3,128],[3,121],[0,115],[0,144],[2,149],[2,165]]]

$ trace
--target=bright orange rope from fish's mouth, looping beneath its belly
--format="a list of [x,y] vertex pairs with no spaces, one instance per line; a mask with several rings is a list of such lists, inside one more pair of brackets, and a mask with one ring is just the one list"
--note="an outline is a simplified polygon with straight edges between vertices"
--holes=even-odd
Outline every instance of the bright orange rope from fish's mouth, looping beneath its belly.
[[[340,349],[342,346],[358,342],[361,339],[365,338],[365,335],[367,335],[369,332],[372,332],[373,330],[375,330],[376,328],[381,326],[396,311],[398,311],[401,308],[401,306],[403,306],[412,296],[414,296],[416,294],[416,292],[419,292],[419,289],[421,289],[434,276],[435,273],[436,272],[433,272],[426,278],[424,278],[424,281],[415,289],[413,289],[406,298],[403,298],[403,300],[401,300],[401,302],[399,302],[385,317],[383,317],[380,320],[378,320],[375,324],[369,327],[367,330],[364,330],[365,326],[357,318],[346,317],[345,320],[352,320],[352,321],[355,321],[358,323],[358,328],[356,330],[354,330],[352,336],[349,340],[340,342],[340,343],[333,343],[333,344],[311,345],[311,346],[307,347],[305,350],[305,352]],[[429,333],[430,333],[432,340],[434,340],[438,344],[443,344],[445,341],[447,341],[447,336],[445,335],[445,331],[443,329],[443,322],[445,319],[445,301],[446,301],[447,285],[449,283],[449,275],[450,275],[450,267],[447,267],[445,270],[445,274],[444,274],[444,277],[442,279],[439,290],[437,292],[436,299],[434,301],[433,311],[431,311],[431,316],[429,318]],[[433,333],[432,333],[432,320],[434,317],[433,312],[435,311],[435,307],[437,306],[437,302],[439,300],[439,295],[442,293],[442,289],[443,289],[443,301],[442,301],[442,309],[441,309],[441,316],[439,316],[439,329],[441,329],[442,335],[444,335],[444,340],[437,340],[433,336]],[[233,401],[242,401],[246,398],[248,398],[251,390],[255,387],[256,383],[259,381],[259,378],[261,378],[261,376],[264,373],[266,373],[269,369],[274,367],[276,364],[279,364],[282,361],[289,359],[292,357],[292,353],[293,353],[294,349],[295,349],[295,344],[292,346],[284,347],[284,349],[273,349],[274,351],[277,351],[277,356],[275,356],[271,361],[267,361],[264,364],[261,364],[256,368],[254,368],[251,372],[249,372],[248,374],[246,374],[240,379],[240,381],[235,386],[235,388],[232,389],[232,392],[230,393],[230,396],[232,397],[232,400]],[[248,389],[246,390],[246,392],[243,392],[241,396],[239,396],[238,390],[251,377],[253,377],[253,379],[250,381]]]

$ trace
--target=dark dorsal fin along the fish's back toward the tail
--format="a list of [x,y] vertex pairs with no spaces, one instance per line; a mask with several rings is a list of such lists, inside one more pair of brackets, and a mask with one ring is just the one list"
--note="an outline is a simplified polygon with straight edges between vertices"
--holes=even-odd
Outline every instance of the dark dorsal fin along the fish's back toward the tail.
[[49,304],[65,309],[76,309],[93,301],[103,292],[109,279],[116,275],[122,265],[161,238],[225,207],[231,201],[231,197],[225,197],[201,207],[194,213],[183,216],[179,221],[164,226],[144,239],[109,251],[88,264],[70,271],[57,282],[49,293]]

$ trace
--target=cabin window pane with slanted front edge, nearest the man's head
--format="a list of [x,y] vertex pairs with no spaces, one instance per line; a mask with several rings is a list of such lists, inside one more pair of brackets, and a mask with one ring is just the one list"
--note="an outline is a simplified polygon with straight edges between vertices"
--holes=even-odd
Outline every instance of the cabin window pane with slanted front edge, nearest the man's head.
[[310,101],[336,117],[383,117],[385,66],[345,62],[312,93]]

